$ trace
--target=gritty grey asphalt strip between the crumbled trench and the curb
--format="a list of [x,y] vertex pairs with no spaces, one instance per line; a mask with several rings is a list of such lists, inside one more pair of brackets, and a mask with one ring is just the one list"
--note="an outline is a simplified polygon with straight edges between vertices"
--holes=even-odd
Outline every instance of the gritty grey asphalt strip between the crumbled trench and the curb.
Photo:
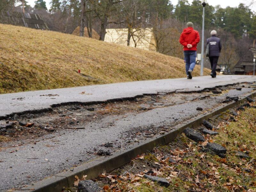
[[[10,147],[15,142],[7,143],[0,151],[0,190],[22,187],[95,160],[99,157],[95,154],[99,149],[109,150],[114,154],[129,148],[135,142],[150,140],[143,133],[159,134],[163,129],[167,132],[172,126],[201,114],[202,111],[197,111],[197,107],[210,110],[220,106],[226,96],[241,97],[252,90],[253,88],[242,88],[242,91],[231,89],[222,95],[153,108],[138,114],[105,116],[94,122],[80,124],[84,129],[61,129],[44,135],[35,139],[36,144],[24,142],[22,146]],[[102,146],[108,142],[113,147]]]

